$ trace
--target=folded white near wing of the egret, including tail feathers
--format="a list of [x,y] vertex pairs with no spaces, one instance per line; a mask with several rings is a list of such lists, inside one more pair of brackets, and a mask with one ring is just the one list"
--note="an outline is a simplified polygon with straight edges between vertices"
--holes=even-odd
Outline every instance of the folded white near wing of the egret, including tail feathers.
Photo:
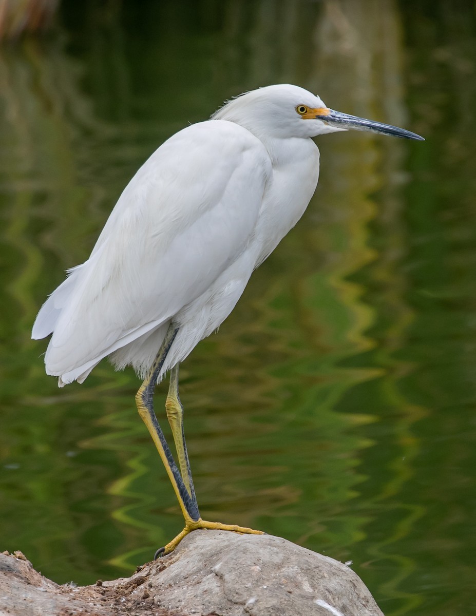
[[228,121],[194,124],[158,148],[91,257],[38,314],[35,337],[53,331],[47,372],[99,361],[207,290],[253,237],[270,174],[263,144]]

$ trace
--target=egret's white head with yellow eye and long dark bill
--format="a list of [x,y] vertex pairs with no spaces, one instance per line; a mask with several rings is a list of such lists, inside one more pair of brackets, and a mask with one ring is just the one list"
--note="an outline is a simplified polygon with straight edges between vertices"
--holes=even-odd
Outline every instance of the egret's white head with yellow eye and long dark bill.
[[423,140],[423,137],[403,128],[329,109],[315,94],[289,84],[246,92],[226,103],[211,117],[240,124],[260,139],[316,137],[327,132],[355,130]]

